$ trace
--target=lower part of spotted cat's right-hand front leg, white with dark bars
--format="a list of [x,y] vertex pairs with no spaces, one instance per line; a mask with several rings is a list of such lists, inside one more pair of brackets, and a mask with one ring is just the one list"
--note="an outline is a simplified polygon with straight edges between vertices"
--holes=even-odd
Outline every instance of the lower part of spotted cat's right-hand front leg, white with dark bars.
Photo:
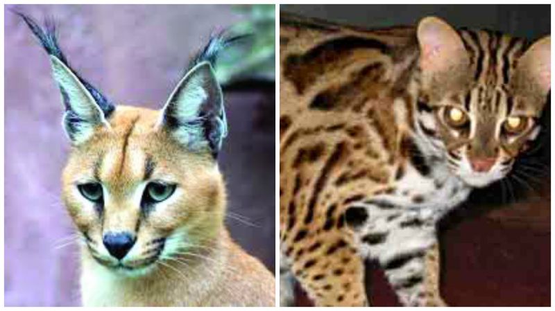
[[447,306],[439,292],[439,248],[402,254],[384,263],[389,283],[403,305]]

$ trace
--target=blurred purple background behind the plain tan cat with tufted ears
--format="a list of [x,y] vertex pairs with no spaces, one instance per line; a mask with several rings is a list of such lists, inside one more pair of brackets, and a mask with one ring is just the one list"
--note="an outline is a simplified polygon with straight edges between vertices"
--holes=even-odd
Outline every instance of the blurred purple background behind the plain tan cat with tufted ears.
[[[191,53],[214,30],[244,19],[229,6],[5,6],[6,306],[78,305],[78,249],[60,203],[69,142],[46,53],[6,8],[58,21],[60,45],[76,71],[115,103],[159,109]],[[230,135],[220,155],[232,236],[274,271],[274,91],[226,96]],[[246,220],[243,219],[246,217]],[[249,224],[252,223],[252,224]]]

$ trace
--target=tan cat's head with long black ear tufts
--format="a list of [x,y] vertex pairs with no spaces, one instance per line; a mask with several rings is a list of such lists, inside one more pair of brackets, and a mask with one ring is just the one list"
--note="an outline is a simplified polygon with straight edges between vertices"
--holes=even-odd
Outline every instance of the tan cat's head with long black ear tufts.
[[116,106],[71,69],[52,24],[21,16],[62,92],[71,141],[62,197],[84,256],[135,276],[213,241],[225,214],[216,155],[227,132],[213,66],[230,40],[212,37],[162,109]]

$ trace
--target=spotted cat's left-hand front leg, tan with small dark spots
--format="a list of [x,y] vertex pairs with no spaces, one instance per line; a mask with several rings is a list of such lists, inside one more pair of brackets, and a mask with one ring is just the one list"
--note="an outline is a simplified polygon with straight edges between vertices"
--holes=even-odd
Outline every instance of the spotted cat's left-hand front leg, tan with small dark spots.
[[316,306],[367,306],[364,260],[339,240],[319,256],[293,262],[293,274]]

